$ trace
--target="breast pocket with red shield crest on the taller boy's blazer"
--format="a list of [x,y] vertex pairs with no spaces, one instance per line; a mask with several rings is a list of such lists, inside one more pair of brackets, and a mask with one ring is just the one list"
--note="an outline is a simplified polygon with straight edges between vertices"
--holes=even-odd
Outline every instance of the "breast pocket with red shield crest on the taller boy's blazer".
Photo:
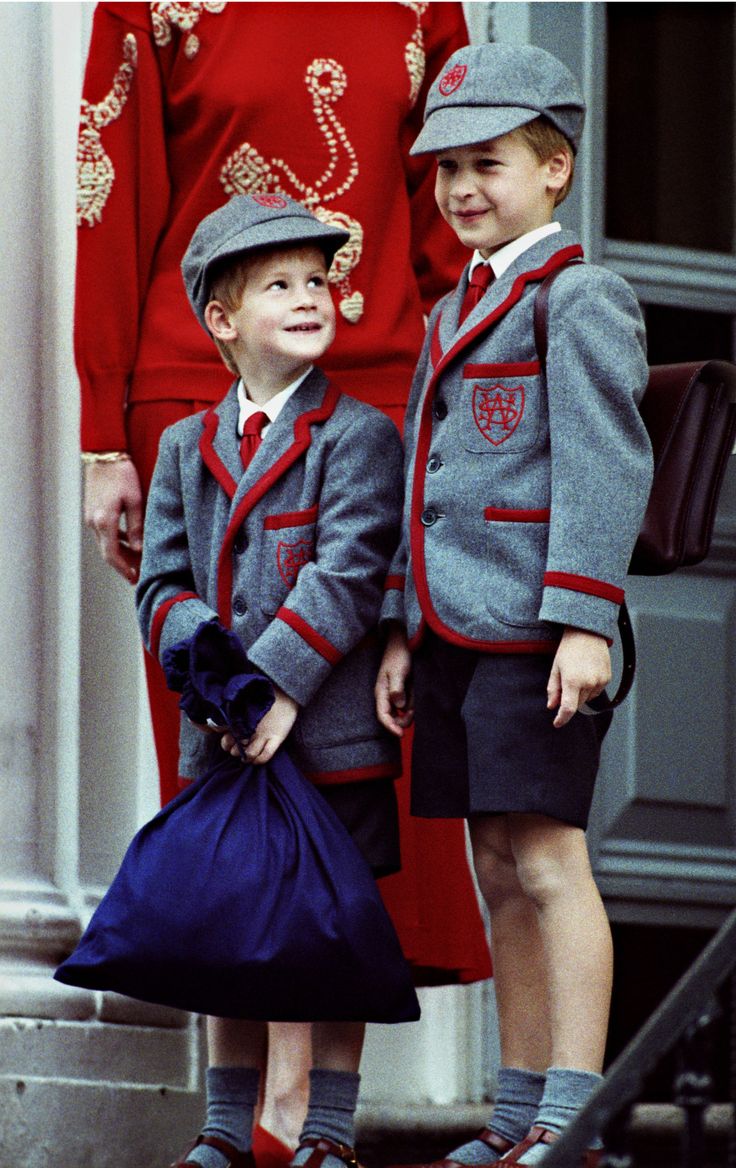
[[463,445],[475,454],[516,454],[537,443],[539,361],[463,367]]

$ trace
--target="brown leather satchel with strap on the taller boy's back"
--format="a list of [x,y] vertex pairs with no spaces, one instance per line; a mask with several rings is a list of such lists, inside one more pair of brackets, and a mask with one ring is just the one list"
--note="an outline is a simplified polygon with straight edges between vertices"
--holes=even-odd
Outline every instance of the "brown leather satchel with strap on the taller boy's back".
[[[542,281],[534,304],[534,338],[542,369],[549,290],[563,271],[557,267]],[[654,479],[629,571],[632,576],[661,576],[700,563],[710,549],[723,475],[736,438],[736,366],[728,361],[652,366],[640,412],[652,442]],[[588,703],[595,712],[620,705],[633,682],[636,647],[625,602],[618,627],[624,652],[622,681],[611,700],[602,696]]]

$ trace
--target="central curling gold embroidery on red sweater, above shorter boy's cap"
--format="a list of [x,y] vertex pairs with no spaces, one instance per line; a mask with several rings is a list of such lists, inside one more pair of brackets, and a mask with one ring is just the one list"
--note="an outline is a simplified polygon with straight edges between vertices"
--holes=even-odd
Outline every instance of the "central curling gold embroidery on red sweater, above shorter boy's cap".
[[333,105],[347,88],[347,74],[332,58],[318,57],[305,74],[305,84],[312,98],[317,126],[327,144],[328,161],[314,182],[303,181],[283,158],[266,160],[243,142],[225,160],[220,172],[228,195],[280,193],[299,199],[322,223],[349,231],[350,238],[338,251],[329,270],[329,281],[340,292],[340,312],[355,325],[363,314],[363,296],[350,286],[350,273],[360,263],[363,250],[363,228],[357,220],[343,211],[326,207],[349,190],[359,174],[357,158],[345,126]]

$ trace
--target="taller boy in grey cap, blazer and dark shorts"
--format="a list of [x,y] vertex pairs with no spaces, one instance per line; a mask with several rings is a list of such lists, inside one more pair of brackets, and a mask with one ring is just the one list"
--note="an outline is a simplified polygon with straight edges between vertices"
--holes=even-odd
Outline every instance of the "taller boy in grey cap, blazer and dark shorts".
[[412,812],[467,818],[491,915],[499,1090],[450,1166],[543,1161],[600,1082],[607,1029],[611,936],[584,829],[610,715],[576,711],[610,677],[652,458],[624,280],[569,266],[546,369],[535,347],[540,281],[583,255],[553,222],[583,118],[555,57],[475,46],[430,90],[412,150],[437,157],[439,210],[472,258],[431,314],[407,412],[376,700],[397,736],[415,721]]

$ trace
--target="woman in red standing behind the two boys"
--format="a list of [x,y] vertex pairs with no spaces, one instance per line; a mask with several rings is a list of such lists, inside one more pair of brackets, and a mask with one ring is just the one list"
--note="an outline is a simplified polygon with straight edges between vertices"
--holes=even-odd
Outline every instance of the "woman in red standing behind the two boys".
[[[326,371],[401,425],[425,314],[463,265],[435,214],[433,165],[408,147],[437,70],[466,41],[459,4],[97,6],[75,352],[85,521],[131,584],[161,431],[228,389],[179,265],[195,225],[231,195],[284,192],[349,231],[331,272],[339,325]],[[166,801],[180,786],[179,711],[151,658],[146,673]],[[403,870],[381,888],[416,979],[486,978],[461,825],[410,820],[407,778],[398,797]],[[287,1146],[301,1119],[299,1034],[272,1043],[263,1115]]]

